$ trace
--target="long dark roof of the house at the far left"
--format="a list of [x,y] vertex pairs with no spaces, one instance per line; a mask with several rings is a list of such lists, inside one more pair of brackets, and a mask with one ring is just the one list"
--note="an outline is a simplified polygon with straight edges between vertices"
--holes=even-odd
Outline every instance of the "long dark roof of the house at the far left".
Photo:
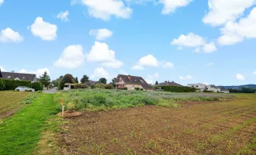
[[25,74],[25,73],[14,73],[2,71],[2,77],[4,79],[16,79],[19,78],[21,81],[34,81],[36,74]]

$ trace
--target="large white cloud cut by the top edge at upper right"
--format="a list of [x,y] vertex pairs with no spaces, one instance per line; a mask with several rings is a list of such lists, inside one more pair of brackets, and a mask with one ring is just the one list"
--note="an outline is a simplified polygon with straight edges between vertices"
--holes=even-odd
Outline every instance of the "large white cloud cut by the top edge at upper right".
[[220,26],[235,21],[244,14],[244,10],[255,4],[255,0],[209,0],[209,12],[202,19],[212,26]]

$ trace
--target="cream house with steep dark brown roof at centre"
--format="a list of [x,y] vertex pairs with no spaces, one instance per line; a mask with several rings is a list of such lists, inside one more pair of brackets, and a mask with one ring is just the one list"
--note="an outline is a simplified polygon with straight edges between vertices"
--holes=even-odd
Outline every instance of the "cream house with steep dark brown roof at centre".
[[135,90],[135,88],[143,88],[144,90],[153,90],[154,88],[147,84],[143,77],[119,74],[116,77],[116,88],[127,88]]

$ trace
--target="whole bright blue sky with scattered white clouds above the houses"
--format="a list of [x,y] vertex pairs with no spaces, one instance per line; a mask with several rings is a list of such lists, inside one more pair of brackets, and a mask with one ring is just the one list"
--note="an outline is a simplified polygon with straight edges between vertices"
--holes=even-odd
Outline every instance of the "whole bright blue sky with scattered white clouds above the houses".
[[[0,0],[2,71],[254,84],[255,0]],[[255,8],[254,8],[255,7]]]

